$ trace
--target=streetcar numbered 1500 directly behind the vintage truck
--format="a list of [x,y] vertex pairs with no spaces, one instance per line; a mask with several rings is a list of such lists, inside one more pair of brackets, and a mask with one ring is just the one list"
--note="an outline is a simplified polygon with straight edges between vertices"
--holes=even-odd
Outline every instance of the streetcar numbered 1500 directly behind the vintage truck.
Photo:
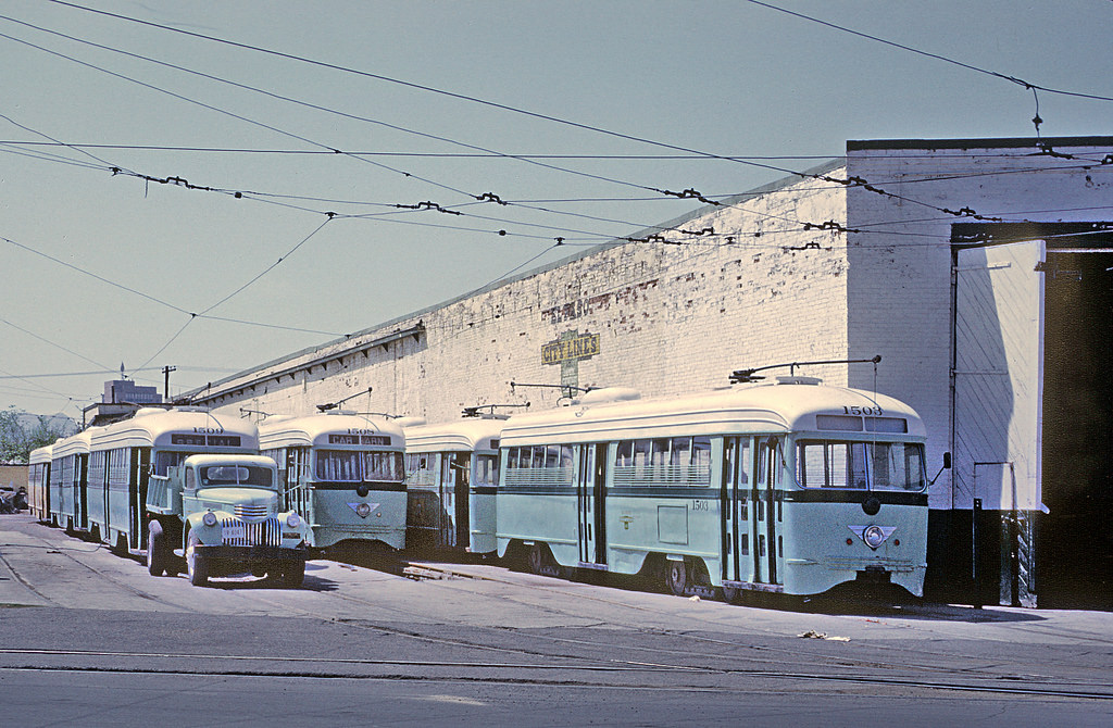
[[[203,407],[142,407],[93,429],[85,504],[89,533],[118,553],[147,547],[147,486],[193,454],[258,454],[258,429]],[[58,444],[55,445],[57,453]]]

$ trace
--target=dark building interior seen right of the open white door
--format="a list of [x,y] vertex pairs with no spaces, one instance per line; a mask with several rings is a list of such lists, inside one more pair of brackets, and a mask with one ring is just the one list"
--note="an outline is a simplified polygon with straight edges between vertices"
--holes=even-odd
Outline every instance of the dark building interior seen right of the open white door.
[[[1095,236],[1054,247],[1093,249]],[[1101,247],[1105,247],[1102,244]],[[1113,249],[1055,253],[1044,276],[1041,607],[1113,608]]]

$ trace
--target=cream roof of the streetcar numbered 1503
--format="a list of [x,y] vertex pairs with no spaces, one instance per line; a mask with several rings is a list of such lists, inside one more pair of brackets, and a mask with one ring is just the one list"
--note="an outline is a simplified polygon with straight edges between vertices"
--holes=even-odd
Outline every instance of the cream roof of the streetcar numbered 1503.
[[[747,384],[673,397],[633,399],[629,391],[609,401],[607,391],[570,406],[513,415],[503,425],[502,446],[595,440],[817,432],[817,415],[880,414],[904,420],[907,433],[886,437],[923,440],[919,416],[890,396],[823,384]],[[879,412],[877,412],[879,410]],[[865,427],[859,427],[864,430]],[[841,436],[828,432],[825,436]]]

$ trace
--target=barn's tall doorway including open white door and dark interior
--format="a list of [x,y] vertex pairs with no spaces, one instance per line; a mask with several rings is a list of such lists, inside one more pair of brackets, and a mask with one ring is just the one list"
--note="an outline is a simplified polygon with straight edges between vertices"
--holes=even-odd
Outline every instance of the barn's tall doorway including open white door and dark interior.
[[948,571],[1113,608],[1113,224],[954,226]]

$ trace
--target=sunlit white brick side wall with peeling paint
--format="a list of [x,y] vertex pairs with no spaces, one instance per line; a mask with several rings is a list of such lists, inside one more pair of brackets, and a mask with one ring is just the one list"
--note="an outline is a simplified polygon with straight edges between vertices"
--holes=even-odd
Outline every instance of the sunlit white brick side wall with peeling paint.
[[[245,372],[214,387],[225,393],[215,404],[234,414],[305,413],[373,387],[344,406],[431,422],[454,419],[464,406],[551,406],[556,391],[510,383],[560,383],[561,367],[542,364],[541,350],[569,331],[599,335],[600,353],[579,363],[580,385],[631,386],[646,396],[722,386],[743,366],[840,358],[845,240],[804,223],[845,224],[844,199],[830,183],[778,183],[631,236],[656,233],[680,245],[614,244],[574,256]],[[416,338],[358,351],[418,322],[424,332]],[[267,376],[345,351],[355,353],[312,373]],[[811,373],[846,380],[839,367]]]

